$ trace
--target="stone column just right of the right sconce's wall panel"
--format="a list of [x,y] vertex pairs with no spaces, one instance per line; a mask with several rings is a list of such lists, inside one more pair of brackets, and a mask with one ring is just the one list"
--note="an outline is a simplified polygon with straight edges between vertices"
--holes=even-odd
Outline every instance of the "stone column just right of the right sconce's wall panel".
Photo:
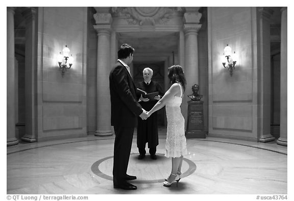
[[260,133],[260,142],[274,141],[275,137],[271,135],[271,34],[270,21],[273,11],[269,8],[261,7],[259,12],[259,63],[258,72],[258,124]]

